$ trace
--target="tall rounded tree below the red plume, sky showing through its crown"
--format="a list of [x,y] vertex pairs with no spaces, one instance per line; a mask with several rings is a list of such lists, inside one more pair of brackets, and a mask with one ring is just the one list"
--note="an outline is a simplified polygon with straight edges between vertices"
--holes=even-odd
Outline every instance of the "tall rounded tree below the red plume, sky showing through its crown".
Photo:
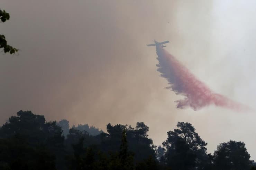
[[168,138],[163,142],[166,148],[165,161],[172,169],[202,169],[207,159],[205,143],[190,123],[178,122],[174,131],[167,132]]

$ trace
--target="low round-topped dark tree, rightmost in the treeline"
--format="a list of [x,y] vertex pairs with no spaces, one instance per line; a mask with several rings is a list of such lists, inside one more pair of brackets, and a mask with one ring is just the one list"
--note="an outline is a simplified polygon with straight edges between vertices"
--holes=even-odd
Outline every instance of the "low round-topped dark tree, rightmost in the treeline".
[[214,169],[250,169],[250,154],[245,148],[244,142],[230,140],[220,143],[213,154]]

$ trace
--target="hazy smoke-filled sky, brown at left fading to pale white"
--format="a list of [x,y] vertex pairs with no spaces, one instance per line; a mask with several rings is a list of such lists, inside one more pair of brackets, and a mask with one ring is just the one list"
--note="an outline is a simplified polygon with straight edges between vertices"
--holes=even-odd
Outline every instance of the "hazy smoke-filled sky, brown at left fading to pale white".
[[152,40],[213,91],[254,107],[254,1],[8,1],[1,34],[19,55],[0,56],[1,123],[19,110],[49,120],[106,124],[144,122],[154,144],[178,121],[190,122],[213,152],[244,141],[256,157],[254,113],[207,107],[177,110],[157,72]]

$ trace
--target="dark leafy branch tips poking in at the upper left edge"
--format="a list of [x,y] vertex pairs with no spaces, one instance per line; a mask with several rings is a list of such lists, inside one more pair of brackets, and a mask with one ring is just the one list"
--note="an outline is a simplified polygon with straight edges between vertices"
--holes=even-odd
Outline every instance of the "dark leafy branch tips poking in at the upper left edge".
[[[5,10],[0,9],[0,19],[2,22],[9,20],[9,13],[7,13]],[[13,48],[12,46],[7,44],[7,40],[5,39],[4,35],[0,35],[0,48],[3,48],[4,53],[14,54],[18,52],[18,49]]]

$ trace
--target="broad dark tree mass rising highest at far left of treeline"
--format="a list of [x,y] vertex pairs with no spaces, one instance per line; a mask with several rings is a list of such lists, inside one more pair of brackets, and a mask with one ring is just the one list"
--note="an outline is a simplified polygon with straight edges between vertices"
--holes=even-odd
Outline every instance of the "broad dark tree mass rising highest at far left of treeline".
[[21,110],[0,128],[0,138],[9,139],[15,135],[25,138],[29,147],[45,147],[51,151],[56,156],[56,167],[61,168],[64,161],[64,136],[56,121],[46,122],[43,115]]

